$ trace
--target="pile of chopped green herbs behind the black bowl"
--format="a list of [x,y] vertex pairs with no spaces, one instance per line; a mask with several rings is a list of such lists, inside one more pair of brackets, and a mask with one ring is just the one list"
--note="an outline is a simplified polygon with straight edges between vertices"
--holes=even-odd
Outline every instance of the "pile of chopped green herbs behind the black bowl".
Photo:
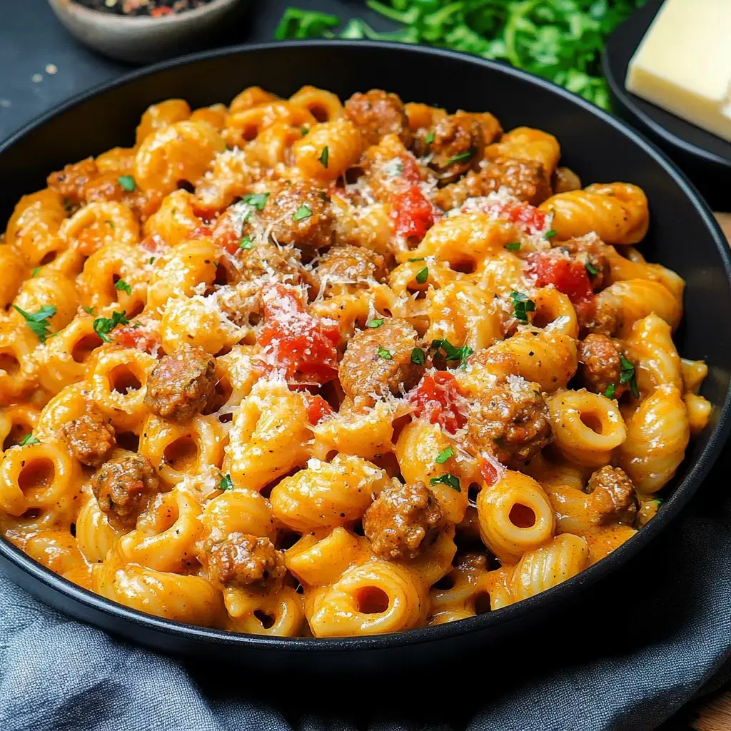
[[354,18],[290,7],[276,30],[285,38],[367,38],[423,43],[507,61],[605,109],[601,55],[607,36],[645,0],[366,0],[398,23],[375,31]]

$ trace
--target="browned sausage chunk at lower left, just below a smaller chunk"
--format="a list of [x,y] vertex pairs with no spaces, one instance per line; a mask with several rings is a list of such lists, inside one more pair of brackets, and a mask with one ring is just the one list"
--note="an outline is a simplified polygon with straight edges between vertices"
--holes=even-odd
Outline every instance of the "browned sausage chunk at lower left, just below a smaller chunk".
[[159,491],[159,479],[149,458],[130,454],[105,462],[91,489],[109,522],[129,531],[137,523],[145,498]]

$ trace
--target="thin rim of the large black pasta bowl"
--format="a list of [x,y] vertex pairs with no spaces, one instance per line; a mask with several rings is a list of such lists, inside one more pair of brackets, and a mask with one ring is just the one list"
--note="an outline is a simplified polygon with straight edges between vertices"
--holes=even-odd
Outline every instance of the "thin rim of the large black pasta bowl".
[[[599,107],[595,107],[580,96],[572,94],[560,86],[556,86],[550,81],[520,71],[520,69],[514,69],[496,61],[488,61],[487,59],[480,58],[479,56],[471,56],[467,53],[458,53],[439,48],[425,48],[423,46],[414,46],[405,43],[339,40],[306,40],[258,43],[251,45],[246,44],[219,48],[216,50],[205,51],[203,53],[193,53],[173,60],[162,61],[159,64],[154,64],[150,67],[145,67],[144,69],[139,69],[118,77],[110,82],[100,84],[83,94],[78,94],[77,96],[72,97],[72,99],[64,102],[64,104],[60,105],[56,109],[45,113],[30,124],[23,126],[22,129],[15,132],[15,134],[5,140],[4,143],[1,143],[0,155],[10,148],[10,146],[15,144],[16,141],[20,140],[21,137],[27,135],[34,129],[37,129],[39,126],[53,121],[54,118],[69,110],[71,107],[75,107],[76,105],[86,102],[96,94],[112,91],[115,88],[124,86],[125,84],[135,81],[141,77],[153,75],[159,71],[172,69],[174,67],[185,67],[189,64],[194,64],[197,61],[205,61],[209,58],[237,56],[242,53],[276,50],[277,48],[299,48],[306,52],[307,48],[330,46],[348,49],[357,48],[363,45],[378,48],[385,53],[397,48],[398,50],[406,51],[408,53],[439,56],[444,58],[445,61],[468,61],[471,64],[490,69],[493,72],[506,74],[527,83],[534,84],[535,86],[539,86],[545,89],[545,91],[549,91],[550,93],[567,99],[569,102],[573,102],[580,110],[583,110],[583,113],[598,116],[602,119],[602,121],[613,126],[618,130],[618,132],[624,134],[632,140],[635,145],[642,148],[643,151],[649,154],[654,161],[659,164],[668,175],[670,175],[670,178],[672,178],[673,182],[683,191],[684,194],[686,194],[686,197],[691,200],[694,208],[697,210],[697,213],[705,223],[709,235],[711,235],[713,242],[716,244],[716,249],[721,257],[721,262],[723,262],[726,277],[731,287],[731,254],[719,225],[713,218],[713,214],[708,208],[708,205],[706,205],[702,200],[697,189],[695,189],[693,184],[688,180],[688,178],[686,178],[686,175],[681,173],[681,171],[678,170],[672,162],[670,162],[667,156],[665,156],[656,147],[656,145],[643,137],[643,135],[640,135],[640,133],[635,131],[635,129],[632,129],[632,127],[628,124],[618,120],[604,110],[599,109]],[[517,604],[510,605],[509,607],[503,607],[500,610],[495,610],[475,617],[466,618],[461,621],[422,627],[420,629],[412,629],[408,632],[395,632],[390,635],[365,635],[357,637],[333,637],[319,639],[313,637],[268,637],[262,635],[242,635],[224,630],[209,629],[207,627],[199,627],[165,620],[137,610],[129,609],[123,605],[118,605],[109,599],[105,599],[98,594],[94,594],[93,592],[81,588],[80,586],[77,586],[76,584],[54,574],[50,571],[50,569],[47,569],[42,566],[42,564],[37,563],[37,561],[34,561],[33,558],[27,556],[20,549],[15,548],[12,543],[3,537],[0,537],[0,558],[10,561],[10,563],[14,564],[15,567],[18,567],[23,572],[26,572],[33,577],[34,580],[45,584],[54,591],[57,591],[59,594],[63,594],[68,599],[87,605],[96,612],[104,613],[111,618],[118,618],[131,624],[143,626],[146,629],[154,630],[163,635],[173,635],[190,641],[207,642],[219,645],[239,645],[241,648],[250,647],[257,650],[269,650],[273,652],[332,654],[355,651],[385,650],[388,648],[419,645],[439,640],[449,640],[451,637],[468,635],[472,632],[479,632],[487,629],[490,626],[499,626],[500,624],[514,621],[524,614],[537,611],[541,607],[549,605],[551,602],[561,602],[562,600],[567,599],[569,595],[574,594],[580,588],[587,588],[588,586],[591,586],[591,584],[596,583],[614,572],[616,569],[620,568],[626,563],[626,561],[629,561],[632,556],[637,555],[637,553],[639,553],[645,545],[654,539],[654,537],[656,537],[656,535],[658,535],[659,532],[662,531],[688,503],[700,487],[702,480],[704,480],[707,476],[708,471],[710,471],[711,466],[713,466],[713,463],[716,461],[716,458],[719,456],[730,431],[731,385],[727,389],[724,404],[721,407],[716,425],[713,427],[711,436],[708,439],[708,444],[706,444],[705,448],[700,453],[697,461],[690,469],[689,474],[687,474],[686,478],[680,485],[676,486],[673,495],[667,499],[667,502],[663,505],[662,510],[656,518],[651,520],[641,531],[639,531],[639,533],[629,539],[626,543],[613,551],[610,556],[603,558],[602,561],[599,561],[594,564],[594,566],[589,567],[579,575],[570,578],[564,583],[554,586],[553,588],[548,589],[548,591],[542,592],[542,594],[537,594],[536,596],[531,596],[529,599],[524,599],[522,602],[518,602]],[[48,602],[44,603],[55,608]],[[94,624],[94,622],[91,622],[91,624]]]

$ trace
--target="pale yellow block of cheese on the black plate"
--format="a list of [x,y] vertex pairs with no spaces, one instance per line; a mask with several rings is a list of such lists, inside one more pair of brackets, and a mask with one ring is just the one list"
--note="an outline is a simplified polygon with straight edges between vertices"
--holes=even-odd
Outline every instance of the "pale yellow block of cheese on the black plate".
[[665,0],[625,86],[731,142],[731,0]]

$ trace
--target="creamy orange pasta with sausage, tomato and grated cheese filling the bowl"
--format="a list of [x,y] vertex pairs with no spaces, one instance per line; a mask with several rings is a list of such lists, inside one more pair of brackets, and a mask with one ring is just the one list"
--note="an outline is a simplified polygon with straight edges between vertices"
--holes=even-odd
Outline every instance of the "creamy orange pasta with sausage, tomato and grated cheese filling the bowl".
[[344,637],[500,610],[662,510],[713,406],[652,201],[406,102],[169,99],[20,197],[5,539],[160,618]]

